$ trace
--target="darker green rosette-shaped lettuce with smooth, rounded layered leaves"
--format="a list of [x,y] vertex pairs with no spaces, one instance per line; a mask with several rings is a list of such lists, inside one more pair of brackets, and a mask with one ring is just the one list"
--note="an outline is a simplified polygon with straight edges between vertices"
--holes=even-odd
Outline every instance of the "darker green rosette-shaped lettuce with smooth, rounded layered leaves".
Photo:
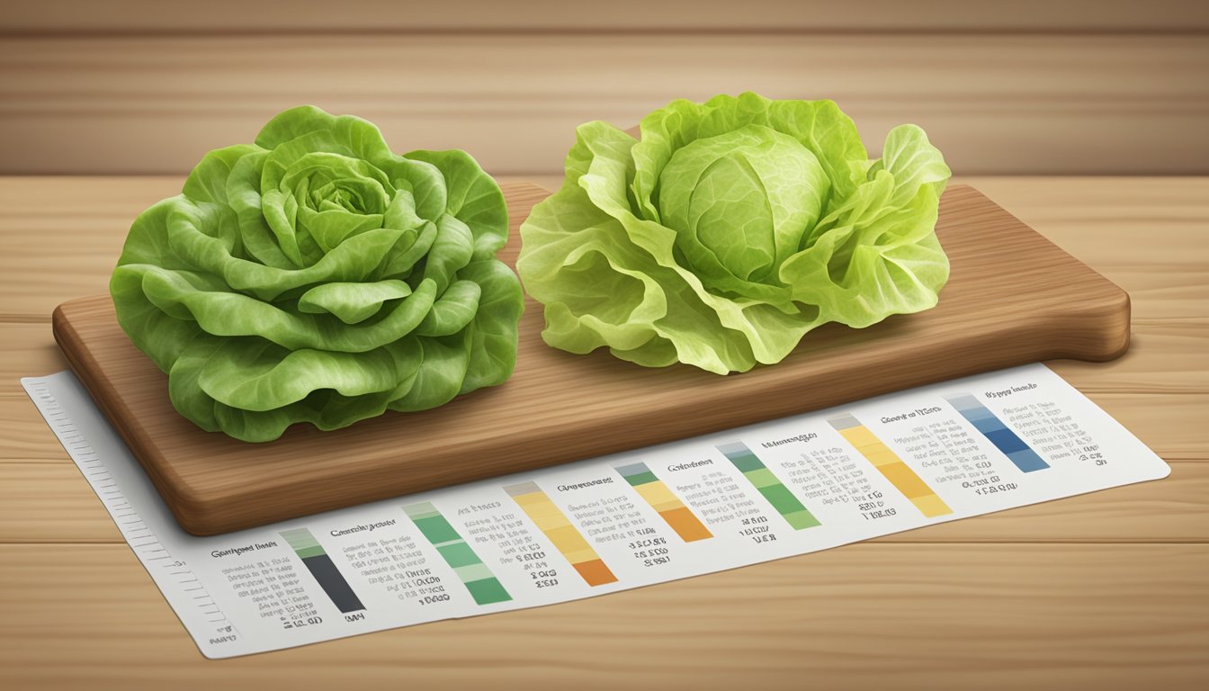
[[143,212],[110,281],[117,321],[207,431],[276,439],[503,382],[520,283],[508,211],[463,151],[397,155],[302,106],[210,151]]

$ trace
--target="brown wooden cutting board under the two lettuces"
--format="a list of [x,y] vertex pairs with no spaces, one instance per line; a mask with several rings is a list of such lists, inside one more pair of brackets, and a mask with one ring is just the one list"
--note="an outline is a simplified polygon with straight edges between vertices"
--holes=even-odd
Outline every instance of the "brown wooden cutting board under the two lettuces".
[[[513,237],[549,192],[504,185]],[[436,410],[387,413],[336,432],[296,425],[249,444],[203,432],[168,379],[122,333],[108,295],[54,310],[71,368],[185,530],[213,535],[366,501],[539,468],[1039,359],[1110,359],[1129,344],[1129,296],[985,196],[953,185],[937,234],[951,278],[927,312],[867,329],[829,324],[781,364],[718,376],[646,369],[542,342],[526,303],[516,372]]]

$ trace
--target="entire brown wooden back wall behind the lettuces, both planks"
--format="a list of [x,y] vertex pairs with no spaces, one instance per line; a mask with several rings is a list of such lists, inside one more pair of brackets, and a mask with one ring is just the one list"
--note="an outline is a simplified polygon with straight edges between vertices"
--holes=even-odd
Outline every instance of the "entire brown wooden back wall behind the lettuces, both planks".
[[314,103],[398,150],[551,174],[676,97],[833,98],[961,174],[1209,172],[1194,0],[0,4],[0,173],[180,173]]

